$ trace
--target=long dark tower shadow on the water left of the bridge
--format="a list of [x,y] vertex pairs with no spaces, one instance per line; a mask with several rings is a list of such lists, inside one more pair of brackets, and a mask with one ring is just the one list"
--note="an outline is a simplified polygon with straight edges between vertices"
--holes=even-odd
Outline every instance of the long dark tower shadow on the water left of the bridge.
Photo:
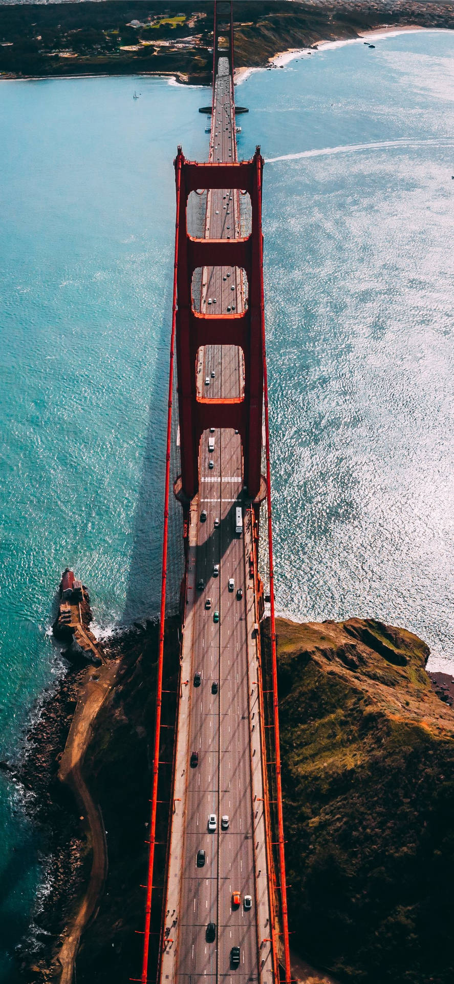
[[129,625],[159,610],[164,507],[167,395],[172,330],[173,265],[166,264],[162,323],[151,379],[142,476],[133,522],[133,548],[121,623]]

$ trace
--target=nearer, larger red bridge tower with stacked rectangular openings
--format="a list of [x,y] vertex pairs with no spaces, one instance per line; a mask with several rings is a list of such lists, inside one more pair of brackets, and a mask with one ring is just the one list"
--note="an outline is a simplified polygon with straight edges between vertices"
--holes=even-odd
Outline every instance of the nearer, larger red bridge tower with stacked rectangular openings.
[[[252,160],[196,163],[181,148],[175,159],[177,184],[177,310],[176,351],[180,410],[182,490],[188,499],[199,490],[199,440],[209,427],[238,429],[243,444],[244,483],[255,499],[260,490],[263,404],[263,237],[259,148]],[[233,188],[248,192],[252,205],[249,236],[198,239],[188,233],[187,207],[192,191]],[[241,313],[202,314],[193,307],[192,279],[201,267],[238,267],[248,279],[248,307]],[[200,345],[239,345],[245,360],[244,395],[232,400],[206,400],[197,392]]]

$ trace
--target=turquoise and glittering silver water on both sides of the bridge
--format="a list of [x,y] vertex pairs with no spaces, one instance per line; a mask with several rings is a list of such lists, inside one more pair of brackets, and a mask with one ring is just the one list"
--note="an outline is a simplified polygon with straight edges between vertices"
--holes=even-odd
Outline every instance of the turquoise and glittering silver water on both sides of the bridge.
[[[374,43],[237,90],[240,154],[268,161],[277,604],[403,625],[454,671],[454,35]],[[67,564],[100,628],[156,610],[172,159],[207,154],[208,99],[145,78],[0,86],[0,759],[62,672]],[[22,803],[0,772],[1,984],[41,874]]]

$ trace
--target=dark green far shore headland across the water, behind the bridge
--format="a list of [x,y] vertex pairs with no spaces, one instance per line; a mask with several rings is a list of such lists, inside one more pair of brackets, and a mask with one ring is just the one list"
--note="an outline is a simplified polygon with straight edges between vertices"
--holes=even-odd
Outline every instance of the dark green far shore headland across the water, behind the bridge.
[[[386,26],[453,28],[447,0],[268,0],[234,4],[235,61],[264,65],[279,51]],[[0,4],[0,78],[175,75],[208,85],[211,0]],[[227,27],[227,26],[226,26]]]

